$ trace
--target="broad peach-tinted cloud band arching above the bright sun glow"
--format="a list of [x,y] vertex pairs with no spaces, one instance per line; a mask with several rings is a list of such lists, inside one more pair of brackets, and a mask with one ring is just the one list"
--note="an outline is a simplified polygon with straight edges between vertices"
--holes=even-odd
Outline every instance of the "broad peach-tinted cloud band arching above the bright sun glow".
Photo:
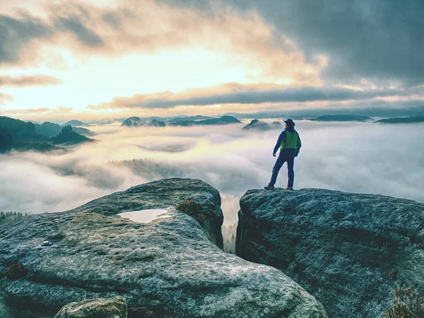
[[[295,43],[283,34],[276,35],[257,13],[240,13],[225,6],[217,6],[213,16],[153,0],[144,0],[142,5],[138,1],[122,1],[115,8],[76,2],[47,2],[45,6],[44,20],[28,15],[4,16],[8,19],[4,29],[10,36],[2,43],[8,55],[0,54],[0,63],[34,64],[40,59],[47,63],[57,47],[79,58],[195,48],[223,54],[228,66],[242,66],[250,79],[302,81],[310,85],[321,83],[319,74],[326,64],[324,57],[305,61]],[[28,20],[37,23],[38,33],[27,27]],[[34,55],[38,58],[31,58]]]

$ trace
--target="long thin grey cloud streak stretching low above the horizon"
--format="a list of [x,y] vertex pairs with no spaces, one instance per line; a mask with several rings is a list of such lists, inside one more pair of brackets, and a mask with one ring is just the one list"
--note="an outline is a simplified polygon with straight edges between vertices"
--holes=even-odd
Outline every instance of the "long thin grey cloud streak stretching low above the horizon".
[[[220,88],[223,93],[220,93]],[[204,88],[172,93],[170,91],[146,95],[134,95],[131,98],[114,98],[111,102],[88,106],[88,109],[105,108],[172,108],[181,105],[216,104],[261,104],[266,102],[313,102],[336,100],[365,100],[376,97],[404,95],[401,90],[351,90],[338,87],[302,87],[261,89],[259,86],[243,86],[230,83],[227,86]]]

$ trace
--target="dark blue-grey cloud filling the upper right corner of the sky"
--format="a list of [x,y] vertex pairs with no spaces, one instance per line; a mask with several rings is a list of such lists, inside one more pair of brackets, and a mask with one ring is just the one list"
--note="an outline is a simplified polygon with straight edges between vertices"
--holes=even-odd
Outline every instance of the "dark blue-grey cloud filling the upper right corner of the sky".
[[[213,16],[211,1],[170,0]],[[322,75],[332,83],[424,82],[424,2],[420,0],[231,0],[256,11],[301,49],[307,61],[328,57]]]

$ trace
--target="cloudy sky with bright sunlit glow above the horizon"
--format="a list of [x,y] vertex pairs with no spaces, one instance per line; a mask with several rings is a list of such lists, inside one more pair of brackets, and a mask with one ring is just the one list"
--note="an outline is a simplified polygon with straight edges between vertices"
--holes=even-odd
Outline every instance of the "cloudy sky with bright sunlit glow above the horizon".
[[1,0],[0,114],[424,106],[422,0]]

